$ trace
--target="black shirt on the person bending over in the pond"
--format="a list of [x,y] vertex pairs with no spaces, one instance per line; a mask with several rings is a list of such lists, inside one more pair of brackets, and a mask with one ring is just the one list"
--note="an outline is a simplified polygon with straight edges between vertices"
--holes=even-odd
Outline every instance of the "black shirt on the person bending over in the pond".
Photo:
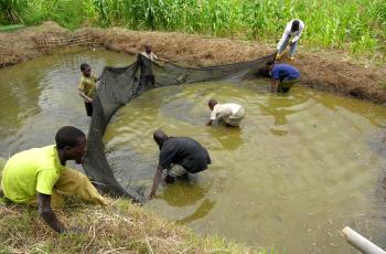
[[207,150],[197,141],[187,137],[169,137],[160,147],[159,167],[170,169],[180,165],[191,173],[207,169],[211,158]]

